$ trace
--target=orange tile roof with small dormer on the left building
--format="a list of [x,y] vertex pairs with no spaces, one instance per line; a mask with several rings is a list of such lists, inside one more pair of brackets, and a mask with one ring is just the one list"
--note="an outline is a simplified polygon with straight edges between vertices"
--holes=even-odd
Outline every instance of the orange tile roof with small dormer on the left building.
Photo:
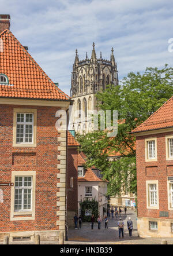
[[69,100],[45,74],[31,55],[9,30],[0,34],[0,74],[5,74],[9,85],[0,85],[0,97],[42,100]]

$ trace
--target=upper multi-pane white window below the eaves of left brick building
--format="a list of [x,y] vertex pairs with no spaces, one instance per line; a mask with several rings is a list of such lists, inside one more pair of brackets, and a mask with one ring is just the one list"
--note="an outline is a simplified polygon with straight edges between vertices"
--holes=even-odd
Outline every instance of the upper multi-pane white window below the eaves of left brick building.
[[33,114],[17,113],[16,143],[33,142]]

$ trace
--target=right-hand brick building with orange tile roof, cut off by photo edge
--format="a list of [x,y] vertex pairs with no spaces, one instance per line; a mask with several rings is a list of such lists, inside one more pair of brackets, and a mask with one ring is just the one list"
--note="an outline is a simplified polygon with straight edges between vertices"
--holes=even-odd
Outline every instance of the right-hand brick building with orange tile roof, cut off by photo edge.
[[138,234],[173,237],[173,97],[136,136]]

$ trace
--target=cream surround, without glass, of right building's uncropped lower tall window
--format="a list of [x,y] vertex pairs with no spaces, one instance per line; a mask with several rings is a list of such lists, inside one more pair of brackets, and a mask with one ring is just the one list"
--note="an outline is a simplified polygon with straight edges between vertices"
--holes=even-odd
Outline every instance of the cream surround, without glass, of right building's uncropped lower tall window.
[[[156,184],[156,203],[151,204],[151,189],[150,185],[151,184]],[[146,181],[146,208],[147,209],[157,209],[159,210],[159,185],[158,185],[158,180],[149,180]]]

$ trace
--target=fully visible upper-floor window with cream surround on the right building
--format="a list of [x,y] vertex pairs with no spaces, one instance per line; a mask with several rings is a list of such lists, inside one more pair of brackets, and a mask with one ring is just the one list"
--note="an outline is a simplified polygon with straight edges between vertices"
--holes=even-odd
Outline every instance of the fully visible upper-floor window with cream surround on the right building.
[[145,161],[157,161],[157,138],[145,139]]

